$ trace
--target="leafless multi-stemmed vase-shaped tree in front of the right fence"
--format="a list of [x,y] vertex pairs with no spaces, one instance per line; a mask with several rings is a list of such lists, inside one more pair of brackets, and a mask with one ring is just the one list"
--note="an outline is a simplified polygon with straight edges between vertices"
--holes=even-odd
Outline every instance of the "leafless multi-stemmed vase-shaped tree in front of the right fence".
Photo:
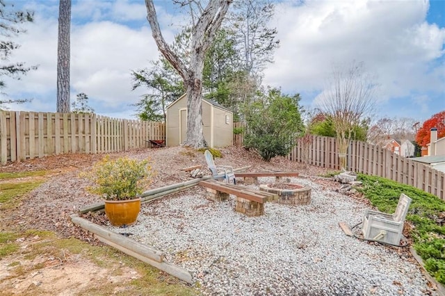
[[318,104],[325,114],[332,117],[341,170],[346,169],[346,153],[354,126],[370,117],[375,110],[377,88],[375,77],[366,72],[364,63],[354,61],[347,68],[334,66],[327,88],[321,93]]

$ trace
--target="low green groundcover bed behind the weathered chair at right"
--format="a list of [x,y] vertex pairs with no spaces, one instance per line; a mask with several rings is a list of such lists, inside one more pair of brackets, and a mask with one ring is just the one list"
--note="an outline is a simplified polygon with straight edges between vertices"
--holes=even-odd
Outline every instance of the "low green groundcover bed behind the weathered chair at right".
[[380,178],[359,174],[363,188],[359,189],[379,211],[394,213],[401,193],[412,199],[406,220],[414,225],[410,236],[413,247],[421,256],[428,272],[445,283],[445,202],[423,190]]

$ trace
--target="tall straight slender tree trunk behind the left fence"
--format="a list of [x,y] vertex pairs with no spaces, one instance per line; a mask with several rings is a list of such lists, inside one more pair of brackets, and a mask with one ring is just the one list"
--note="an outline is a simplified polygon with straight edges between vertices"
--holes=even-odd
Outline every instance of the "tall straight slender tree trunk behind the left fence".
[[60,0],[57,47],[57,112],[70,112],[71,0]]

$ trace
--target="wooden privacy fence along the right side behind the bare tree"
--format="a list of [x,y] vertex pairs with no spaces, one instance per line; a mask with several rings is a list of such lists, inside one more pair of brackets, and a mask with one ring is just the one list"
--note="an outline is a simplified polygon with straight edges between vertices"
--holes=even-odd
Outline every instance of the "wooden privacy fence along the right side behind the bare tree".
[[[299,138],[287,156],[292,161],[339,170],[335,138],[309,136]],[[398,154],[361,141],[350,141],[347,170],[381,176],[414,186],[445,199],[445,173]]]

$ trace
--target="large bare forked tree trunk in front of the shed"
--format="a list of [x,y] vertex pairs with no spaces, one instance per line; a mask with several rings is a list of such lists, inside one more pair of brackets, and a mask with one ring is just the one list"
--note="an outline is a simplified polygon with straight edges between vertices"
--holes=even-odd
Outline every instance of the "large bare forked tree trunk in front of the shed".
[[[205,147],[207,142],[202,131],[202,70],[207,49],[215,39],[216,31],[233,0],[212,0],[202,10],[192,28],[190,63],[183,60],[165,42],[159,28],[156,10],[152,0],[145,0],[147,20],[152,28],[153,38],[165,58],[172,64],[184,80],[187,92],[187,132],[184,145]],[[194,2],[193,0],[188,3]],[[195,21],[195,20],[194,20]]]

